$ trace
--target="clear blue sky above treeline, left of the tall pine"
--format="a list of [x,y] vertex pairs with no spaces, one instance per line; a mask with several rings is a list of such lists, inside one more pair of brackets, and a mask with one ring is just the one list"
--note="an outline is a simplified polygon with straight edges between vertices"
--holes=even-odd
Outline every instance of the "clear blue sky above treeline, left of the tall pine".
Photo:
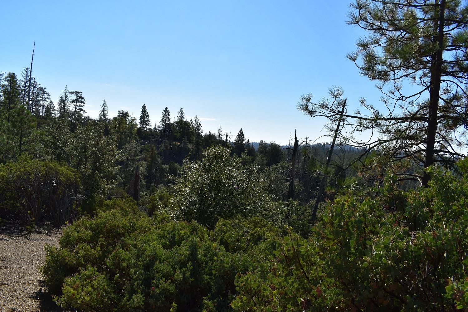
[[251,141],[317,138],[324,120],[296,109],[343,87],[351,108],[378,100],[373,82],[345,58],[364,33],[346,25],[338,1],[30,1],[1,0],[0,71],[29,66],[57,102],[65,85],[153,125],[168,107],[198,115],[205,132],[243,128]]

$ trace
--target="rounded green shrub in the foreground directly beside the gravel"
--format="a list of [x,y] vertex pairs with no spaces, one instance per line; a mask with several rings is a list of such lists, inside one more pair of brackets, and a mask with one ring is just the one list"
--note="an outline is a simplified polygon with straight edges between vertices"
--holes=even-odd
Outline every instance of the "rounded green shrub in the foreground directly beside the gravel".
[[56,302],[80,311],[227,311],[235,276],[265,261],[278,233],[261,219],[221,219],[210,232],[112,200],[46,247],[43,273]]

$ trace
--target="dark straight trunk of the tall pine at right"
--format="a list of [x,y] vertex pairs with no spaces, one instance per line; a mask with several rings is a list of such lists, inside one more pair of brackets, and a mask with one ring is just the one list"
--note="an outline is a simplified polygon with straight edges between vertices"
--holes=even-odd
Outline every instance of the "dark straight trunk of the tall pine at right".
[[[431,88],[429,91],[429,118],[427,122],[427,139],[426,139],[426,157],[424,159],[424,167],[427,168],[434,163],[434,145],[437,134],[437,114],[439,110],[439,94],[440,94],[440,79],[442,76],[442,61],[444,51],[444,20],[445,20],[445,3],[442,0],[439,6],[439,31],[437,36],[434,36],[434,43],[438,44],[438,50],[432,56],[431,64]],[[437,29],[436,26],[434,26]],[[427,188],[431,176],[424,172],[421,184]]]

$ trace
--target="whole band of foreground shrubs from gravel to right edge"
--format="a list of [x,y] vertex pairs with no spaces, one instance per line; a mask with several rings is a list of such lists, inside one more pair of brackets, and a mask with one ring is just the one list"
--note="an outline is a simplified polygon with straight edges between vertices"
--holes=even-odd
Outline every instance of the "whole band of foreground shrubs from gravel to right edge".
[[468,161],[458,169],[432,169],[427,189],[337,198],[295,228],[307,239],[253,216],[210,231],[107,201],[46,248],[46,284],[80,311],[467,309]]

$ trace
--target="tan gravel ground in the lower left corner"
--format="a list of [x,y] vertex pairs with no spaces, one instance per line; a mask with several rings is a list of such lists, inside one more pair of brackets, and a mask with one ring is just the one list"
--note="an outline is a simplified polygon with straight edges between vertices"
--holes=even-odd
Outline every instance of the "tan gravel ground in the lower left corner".
[[29,238],[24,228],[0,224],[0,311],[61,311],[52,301],[39,268],[44,245],[59,245],[62,231],[38,225]]

